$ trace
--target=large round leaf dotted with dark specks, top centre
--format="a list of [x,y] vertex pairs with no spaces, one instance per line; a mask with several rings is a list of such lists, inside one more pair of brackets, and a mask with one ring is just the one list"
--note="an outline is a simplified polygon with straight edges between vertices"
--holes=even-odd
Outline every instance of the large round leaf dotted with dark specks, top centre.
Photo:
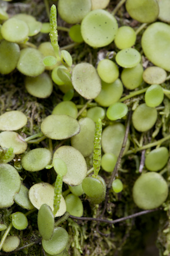
[[100,9],[88,12],[81,24],[84,41],[95,48],[112,43],[117,29],[118,24],[113,15]]

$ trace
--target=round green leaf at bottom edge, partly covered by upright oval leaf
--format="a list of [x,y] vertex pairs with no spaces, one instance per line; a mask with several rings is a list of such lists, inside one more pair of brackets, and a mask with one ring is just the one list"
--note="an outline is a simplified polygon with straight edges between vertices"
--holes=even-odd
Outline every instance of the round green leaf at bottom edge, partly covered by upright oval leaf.
[[42,238],[42,247],[50,255],[62,253],[69,242],[69,234],[65,229],[57,226],[54,228],[53,236],[46,241]]

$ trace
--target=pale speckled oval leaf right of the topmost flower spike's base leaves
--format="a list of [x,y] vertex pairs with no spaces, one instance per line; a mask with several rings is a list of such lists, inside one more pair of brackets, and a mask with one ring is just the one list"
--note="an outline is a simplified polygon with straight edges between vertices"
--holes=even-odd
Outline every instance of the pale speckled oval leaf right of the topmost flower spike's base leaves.
[[80,63],[73,69],[71,76],[74,89],[86,99],[94,99],[101,91],[101,81],[94,66]]

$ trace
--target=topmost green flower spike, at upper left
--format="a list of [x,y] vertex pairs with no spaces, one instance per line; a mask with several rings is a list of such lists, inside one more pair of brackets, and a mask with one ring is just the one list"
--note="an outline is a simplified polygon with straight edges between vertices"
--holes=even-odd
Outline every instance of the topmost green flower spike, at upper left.
[[59,57],[59,45],[58,45],[58,32],[57,32],[57,9],[55,5],[52,5],[50,9],[50,40],[54,52],[56,54],[57,60],[60,60]]

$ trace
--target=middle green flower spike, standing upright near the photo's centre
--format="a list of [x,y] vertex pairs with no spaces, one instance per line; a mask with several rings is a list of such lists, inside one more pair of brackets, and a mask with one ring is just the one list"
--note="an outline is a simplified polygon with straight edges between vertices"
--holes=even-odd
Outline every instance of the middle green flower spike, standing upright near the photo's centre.
[[96,178],[101,166],[101,131],[102,131],[102,124],[101,119],[99,118],[96,121],[96,128],[95,128],[95,139],[94,139],[94,174],[93,177]]

